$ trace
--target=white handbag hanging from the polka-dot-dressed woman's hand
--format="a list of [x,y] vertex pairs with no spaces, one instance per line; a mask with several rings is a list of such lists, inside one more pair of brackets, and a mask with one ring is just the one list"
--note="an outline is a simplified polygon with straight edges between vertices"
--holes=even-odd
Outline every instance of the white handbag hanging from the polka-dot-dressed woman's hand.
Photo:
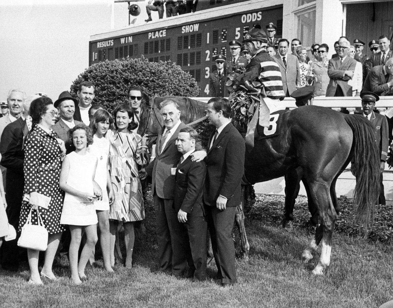
[[26,224],[22,227],[22,233],[18,240],[18,246],[33,250],[45,251],[48,248],[48,231],[46,230],[40,212],[37,211],[38,225],[31,224],[31,211]]

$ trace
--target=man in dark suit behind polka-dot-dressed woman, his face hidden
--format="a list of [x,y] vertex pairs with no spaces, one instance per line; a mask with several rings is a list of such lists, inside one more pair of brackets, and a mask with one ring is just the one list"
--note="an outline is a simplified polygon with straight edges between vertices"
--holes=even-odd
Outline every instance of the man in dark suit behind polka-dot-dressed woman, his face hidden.
[[[24,114],[29,115],[30,103],[39,98],[39,95],[29,96],[24,100]],[[7,168],[6,181],[8,185],[5,187],[7,201],[7,217],[8,222],[18,230],[20,208],[22,206],[24,175],[23,161],[24,151],[23,142],[29,130],[31,129],[26,123],[26,119],[21,116],[16,121],[8,124],[1,136],[0,153],[2,155],[1,165]],[[19,268],[19,249],[17,246],[20,234],[12,241],[4,241],[2,245],[2,268],[17,271]]]

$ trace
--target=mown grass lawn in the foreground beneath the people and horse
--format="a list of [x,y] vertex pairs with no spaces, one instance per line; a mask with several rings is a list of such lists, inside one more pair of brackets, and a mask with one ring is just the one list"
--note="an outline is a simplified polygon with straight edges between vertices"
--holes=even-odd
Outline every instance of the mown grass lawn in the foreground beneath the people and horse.
[[[323,276],[313,276],[319,252],[308,264],[300,257],[312,239],[312,228],[299,223],[294,231],[281,227],[281,217],[261,219],[270,206],[283,208],[283,197],[259,196],[246,219],[250,241],[248,260],[236,261],[238,282],[221,288],[214,280],[214,261],[206,282],[191,282],[158,273],[154,213],[151,200],[146,206],[146,233],[136,229],[134,267],[121,260],[115,273],[103,270],[102,260],[86,267],[88,280],[81,286],[70,281],[68,261],[56,258],[57,281],[43,280],[44,286],[27,283],[29,267],[8,273],[0,270],[0,307],[378,307],[393,299],[391,243],[373,243],[360,237],[334,234],[331,266]],[[307,205],[299,197],[295,219],[307,221]],[[259,214],[258,214],[259,213]],[[237,255],[239,235],[234,229]],[[124,247],[123,247],[124,249]]]

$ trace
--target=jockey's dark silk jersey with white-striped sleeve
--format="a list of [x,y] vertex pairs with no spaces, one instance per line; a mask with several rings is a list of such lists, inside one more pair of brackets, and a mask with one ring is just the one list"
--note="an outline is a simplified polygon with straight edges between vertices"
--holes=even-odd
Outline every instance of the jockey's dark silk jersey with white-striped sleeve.
[[259,80],[264,86],[267,97],[272,99],[285,97],[280,68],[264,50],[251,59],[243,75],[242,82]]

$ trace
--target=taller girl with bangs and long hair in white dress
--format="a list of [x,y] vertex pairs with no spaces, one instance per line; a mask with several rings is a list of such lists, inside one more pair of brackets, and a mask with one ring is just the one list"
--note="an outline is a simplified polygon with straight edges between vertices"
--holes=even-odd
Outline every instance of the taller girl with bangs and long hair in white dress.
[[99,200],[94,201],[94,206],[98,217],[98,227],[101,232],[100,243],[104,267],[109,272],[113,272],[109,253],[109,205],[114,202],[115,197],[108,169],[110,143],[105,138],[105,135],[111,124],[113,124],[113,118],[110,113],[103,109],[97,110],[90,122],[90,128],[94,134],[93,144],[88,147],[90,154],[93,154],[98,160],[94,180],[101,187],[103,194]]

